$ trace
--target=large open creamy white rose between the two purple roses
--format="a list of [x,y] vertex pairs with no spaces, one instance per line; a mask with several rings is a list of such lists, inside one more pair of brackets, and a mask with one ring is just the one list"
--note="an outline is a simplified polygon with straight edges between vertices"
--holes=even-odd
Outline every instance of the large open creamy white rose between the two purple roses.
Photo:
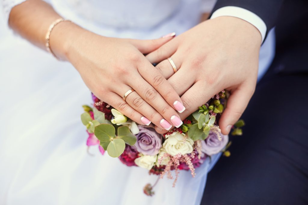
[[173,132],[171,135],[166,135],[166,138],[163,148],[165,148],[168,154],[175,156],[178,153],[184,155],[193,152],[194,142],[188,136],[184,140],[184,133]]

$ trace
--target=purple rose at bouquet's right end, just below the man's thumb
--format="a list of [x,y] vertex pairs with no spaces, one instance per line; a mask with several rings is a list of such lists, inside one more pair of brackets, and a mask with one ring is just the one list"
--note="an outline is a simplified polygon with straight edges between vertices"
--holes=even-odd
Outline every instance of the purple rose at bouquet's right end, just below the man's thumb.
[[228,135],[220,133],[221,141],[218,140],[218,136],[215,132],[210,131],[209,136],[202,141],[202,152],[211,156],[220,152],[228,143]]

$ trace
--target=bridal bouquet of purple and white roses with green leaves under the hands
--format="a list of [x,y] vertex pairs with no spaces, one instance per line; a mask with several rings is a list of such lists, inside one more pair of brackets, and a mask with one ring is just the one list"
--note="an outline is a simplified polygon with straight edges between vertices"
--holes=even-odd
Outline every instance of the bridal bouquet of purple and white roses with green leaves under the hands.
[[[137,124],[92,94],[94,106],[83,105],[85,112],[81,115],[89,135],[87,146],[98,145],[102,154],[107,151],[127,166],[139,166],[160,178],[166,175],[174,179],[175,186],[179,170],[190,171],[194,177],[195,169],[207,157],[218,152],[230,155],[227,148],[231,142],[221,133],[217,123],[228,96],[228,92],[221,91],[183,120],[179,128],[161,135],[153,126]],[[239,120],[232,134],[241,135],[243,125],[243,120]],[[144,187],[144,193],[154,194],[150,184]]]

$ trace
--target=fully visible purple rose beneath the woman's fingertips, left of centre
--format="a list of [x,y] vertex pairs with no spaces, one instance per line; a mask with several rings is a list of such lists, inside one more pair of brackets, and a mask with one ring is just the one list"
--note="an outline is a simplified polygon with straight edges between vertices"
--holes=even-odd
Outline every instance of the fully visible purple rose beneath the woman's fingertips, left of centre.
[[156,155],[161,148],[161,136],[154,128],[138,125],[139,133],[136,134],[134,147],[144,155]]

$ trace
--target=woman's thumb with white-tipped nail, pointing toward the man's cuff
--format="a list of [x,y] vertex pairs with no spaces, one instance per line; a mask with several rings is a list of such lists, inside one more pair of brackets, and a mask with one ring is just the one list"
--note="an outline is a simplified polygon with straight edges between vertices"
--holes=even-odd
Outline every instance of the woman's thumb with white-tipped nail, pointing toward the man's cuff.
[[129,41],[134,45],[141,53],[147,54],[151,53],[152,51],[158,49],[160,46],[164,45],[168,41],[170,41],[173,37],[175,37],[175,33],[170,33],[167,35],[164,35],[161,38],[158,39],[152,39],[152,40],[136,40],[136,39],[130,39]]

